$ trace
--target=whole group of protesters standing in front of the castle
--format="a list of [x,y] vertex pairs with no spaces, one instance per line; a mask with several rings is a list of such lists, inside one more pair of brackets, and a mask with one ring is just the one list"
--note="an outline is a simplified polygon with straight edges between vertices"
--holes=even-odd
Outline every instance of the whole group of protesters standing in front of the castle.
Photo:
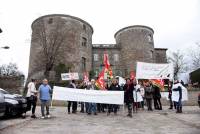
[[[39,86],[38,90],[36,90],[36,80],[32,80],[28,84],[28,91],[27,91],[27,102],[28,102],[28,110],[31,110],[32,107],[32,115],[31,118],[36,118],[35,116],[35,108],[37,103],[37,98],[39,97],[41,102],[41,114],[42,119],[47,117],[50,118],[49,113],[49,105],[51,101],[51,94],[52,89],[48,85],[48,80],[44,79],[43,83]],[[77,84],[75,80],[72,80],[68,85],[69,88],[79,88],[79,89],[86,89],[86,90],[97,90],[95,85],[95,80],[92,79],[90,82],[81,82]],[[126,79],[126,84],[124,86],[120,86],[118,84],[117,79],[112,79],[112,83],[110,86],[108,84],[105,85],[104,90],[108,91],[124,91],[124,101],[126,106],[128,107],[128,117],[132,117],[132,113],[137,111],[137,109],[144,110],[144,106],[147,106],[148,111],[153,111],[153,102],[154,102],[154,109],[162,110],[161,104],[161,93],[160,89],[157,86],[154,86],[151,81],[142,82],[139,81],[138,83],[135,80],[131,80],[129,78]],[[174,85],[169,90],[169,99],[170,99],[170,109],[172,109],[173,102],[172,102],[172,91],[179,94],[179,99],[174,102],[174,106],[177,109],[177,113],[182,112],[182,91],[181,86],[179,86],[179,82],[175,81]],[[119,105],[116,104],[98,104],[93,102],[75,102],[75,101],[68,101],[67,105],[67,112],[68,114],[77,113],[77,106],[80,103],[81,110],[80,112],[86,112],[88,115],[94,114],[97,115],[98,112],[106,112],[109,116],[111,112],[114,112],[117,115],[119,110]],[[46,108],[46,114],[45,114]],[[71,111],[72,108],[72,111]]]

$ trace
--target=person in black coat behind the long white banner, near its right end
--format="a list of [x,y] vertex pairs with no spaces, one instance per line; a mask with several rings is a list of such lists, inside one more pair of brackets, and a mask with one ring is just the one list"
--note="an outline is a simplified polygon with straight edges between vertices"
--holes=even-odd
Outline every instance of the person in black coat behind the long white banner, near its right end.
[[[109,91],[120,91],[120,86],[117,83],[116,79],[112,80],[112,84],[110,85],[110,87],[108,88]],[[108,113],[107,115],[110,115],[111,111],[114,111],[114,114],[117,115],[117,109],[118,109],[118,105],[116,104],[109,104],[108,105]]]

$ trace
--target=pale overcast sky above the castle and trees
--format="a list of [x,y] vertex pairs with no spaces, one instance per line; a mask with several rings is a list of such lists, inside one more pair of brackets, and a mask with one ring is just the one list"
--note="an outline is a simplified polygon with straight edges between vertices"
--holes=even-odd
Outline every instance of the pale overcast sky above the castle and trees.
[[46,14],[79,17],[94,28],[93,43],[115,43],[114,34],[130,25],[154,29],[155,47],[170,51],[200,42],[198,0],[0,0],[0,64],[15,62],[28,72],[31,23]]

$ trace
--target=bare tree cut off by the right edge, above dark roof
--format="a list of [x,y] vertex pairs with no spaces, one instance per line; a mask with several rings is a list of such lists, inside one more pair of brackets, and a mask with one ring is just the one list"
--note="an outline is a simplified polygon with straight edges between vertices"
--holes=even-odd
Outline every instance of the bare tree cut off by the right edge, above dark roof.
[[200,43],[196,43],[196,47],[191,49],[190,57],[192,60],[192,67],[194,70],[200,68]]

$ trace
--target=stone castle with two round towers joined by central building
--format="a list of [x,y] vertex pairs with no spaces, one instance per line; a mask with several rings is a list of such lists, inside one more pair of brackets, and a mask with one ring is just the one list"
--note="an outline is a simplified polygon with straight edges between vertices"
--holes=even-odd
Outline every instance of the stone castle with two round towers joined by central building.
[[[59,26],[61,26],[59,33],[55,33]],[[92,44],[93,28],[89,23],[69,15],[52,14],[39,17],[32,23],[28,78],[44,77],[45,60],[47,59],[44,56],[44,46],[41,42],[51,42],[51,35],[56,34],[64,39],[56,51],[55,65],[59,63],[71,65],[71,72],[82,74],[93,70],[97,77],[103,68],[105,52],[109,55],[115,76],[129,76],[130,71],[136,70],[137,61],[167,62],[167,49],[154,48],[154,31],[150,27],[142,25],[125,27],[115,33],[116,44]],[[38,35],[46,36],[38,38]],[[53,68],[52,75],[54,75]]]

